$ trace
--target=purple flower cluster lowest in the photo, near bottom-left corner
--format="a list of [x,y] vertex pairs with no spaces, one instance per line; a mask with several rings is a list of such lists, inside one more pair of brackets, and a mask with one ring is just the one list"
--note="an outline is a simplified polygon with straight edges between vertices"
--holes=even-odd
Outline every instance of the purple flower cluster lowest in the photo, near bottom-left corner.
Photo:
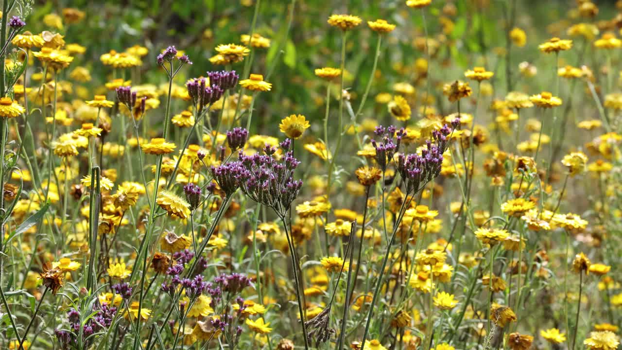
[[[89,337],[104,328],[108,328],[113,323],[113,318],[116,314],[117,308],[108,305],[108,303],[103,303],[101,305],[97,303],[93,311],[95,311],[95,315],[88,319],[83,326],[81,326],[82,322],[80,319],[80,312],[74,308],[70,308],[69,311],[67,311],[70,331],[62,329],[54,331],[54,334],[58,339],[58,343],[60,343],[61,349],[69,349],[70,344],[75,343],[78,339],[86,339],[83,340],[84,344],[83,346],[80,346],[80,348],[88,348],[94,339]],[[78,337],[80,327],[82,331],[81,338]]]

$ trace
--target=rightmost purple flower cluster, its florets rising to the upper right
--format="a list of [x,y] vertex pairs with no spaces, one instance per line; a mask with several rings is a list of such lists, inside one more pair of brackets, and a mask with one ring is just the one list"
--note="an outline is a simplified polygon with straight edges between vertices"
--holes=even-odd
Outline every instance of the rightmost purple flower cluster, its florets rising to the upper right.
[[397,157],[397,171],[404,179],[406,193],[415,193],[429,181],[439,176],[443,163],[443,153],[447,149],[448,135],[452,130],[447,125],[439,131],[434,131],[432,137],[435,143],[428,140],[421,155],[399,154]]

